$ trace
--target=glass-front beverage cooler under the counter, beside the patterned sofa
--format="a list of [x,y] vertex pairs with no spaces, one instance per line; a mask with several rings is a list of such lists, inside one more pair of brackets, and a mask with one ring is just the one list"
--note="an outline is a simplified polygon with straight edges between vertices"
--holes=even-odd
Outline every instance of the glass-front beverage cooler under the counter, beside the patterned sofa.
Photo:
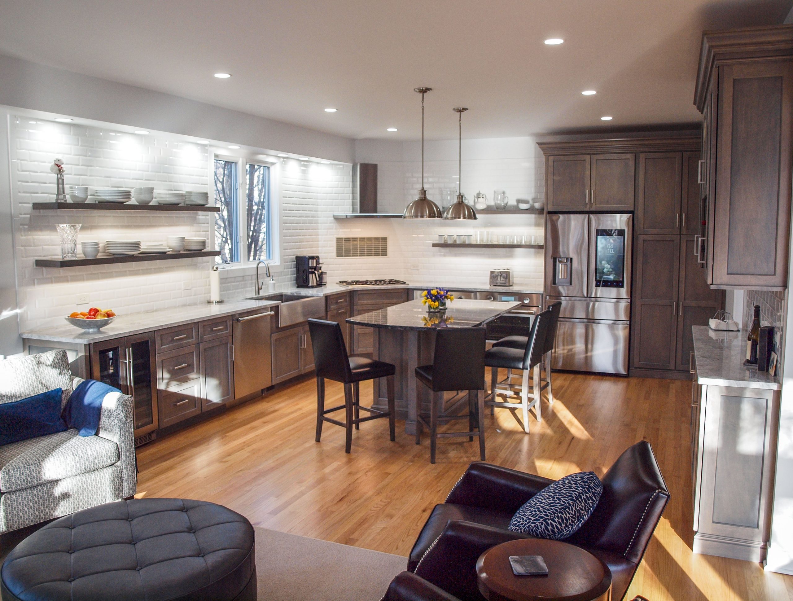
[[134,399],[135,435],[157,429],[154,333],[91,345],[91,377]]

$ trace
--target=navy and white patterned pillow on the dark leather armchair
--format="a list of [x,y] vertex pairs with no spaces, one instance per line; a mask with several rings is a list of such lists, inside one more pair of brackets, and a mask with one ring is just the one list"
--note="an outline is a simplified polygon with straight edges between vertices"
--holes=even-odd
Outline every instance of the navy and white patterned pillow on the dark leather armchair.
[[509,530],[557,541],[568,538],[589,519],[602,493],[603,484],[594,472],[570,474],[523,503]]

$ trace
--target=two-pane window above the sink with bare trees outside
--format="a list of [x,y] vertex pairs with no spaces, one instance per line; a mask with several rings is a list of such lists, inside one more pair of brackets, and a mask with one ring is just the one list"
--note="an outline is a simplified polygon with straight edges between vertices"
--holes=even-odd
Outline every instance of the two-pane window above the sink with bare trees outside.
[[[275,232],[271,227],[270,167],[216,157],[214,179],[220,207],[215,217],[215,243],[220,251],[217,262],[272,260]],[[243,242],[247,242],[244,247]]]

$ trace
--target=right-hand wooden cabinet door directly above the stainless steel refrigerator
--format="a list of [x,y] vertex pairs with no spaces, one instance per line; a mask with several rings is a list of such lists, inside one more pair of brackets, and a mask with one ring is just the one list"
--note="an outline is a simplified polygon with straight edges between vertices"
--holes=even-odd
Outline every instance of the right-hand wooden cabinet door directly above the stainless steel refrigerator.
[[633,153],[592,155],[589,210],[634,210],[636,156]]

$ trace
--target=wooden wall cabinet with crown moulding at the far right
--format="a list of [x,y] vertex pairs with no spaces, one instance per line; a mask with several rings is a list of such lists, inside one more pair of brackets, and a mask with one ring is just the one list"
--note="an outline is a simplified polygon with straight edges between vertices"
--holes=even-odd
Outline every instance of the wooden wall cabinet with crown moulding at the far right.
[[785,289],[793,27],[703,34],[695,105],[706,128],[707,229],[699,232],[706,281],[718,289]]

